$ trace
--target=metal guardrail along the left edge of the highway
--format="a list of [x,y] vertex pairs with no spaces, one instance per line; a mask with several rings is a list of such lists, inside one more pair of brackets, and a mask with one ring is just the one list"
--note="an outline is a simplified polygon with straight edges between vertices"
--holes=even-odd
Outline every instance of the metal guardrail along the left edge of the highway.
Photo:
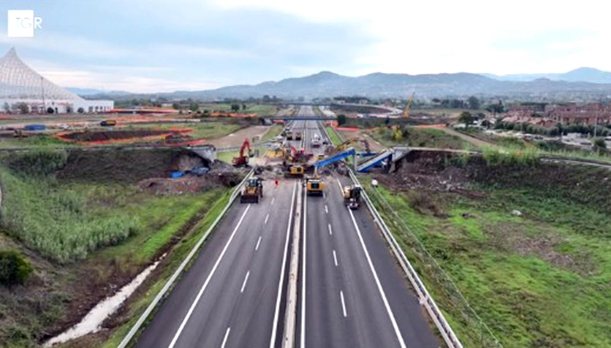
[[142,313],[141,316],[136,321],[136,324],[134,324],[133,327],[131,327],[130,331],[127,333],[127,335],[125,335],[125,337],[123,338],[123,340],[121,341],[121,343],[118,346],[119,348],[126,347],[130,343],[131,339],[134,338],[138,330],[140,330],[140,328],[142,327],[142,324],[144,324],[148,316],[150,316],[150,314],[153,312],[153,310],[159,304],[159,302],[161,302],[161,300],[166,295],[166,293],[169,291],[169,289],[172,287],[172,285],[174,285],[174,282],[178,279],[178,276],[180,276],[183,270],[185,270],[186,266],[189,264],[193,256],[196,255],[197,250],[199,250],[203,242],[205,242],[206,239],[208,239],[208,235],[211,233],[211,231],[214,230],[214,228],[216,228],[216,225],[218,225],[218,223],[225,216],[229,208],[232,206],[233,201],[235,201],[235,199],[240,195],[240,191],[241,191],[242,186],[244,185],[244,182],[246,182],[246,180],[253,173],[254,173],[254,169],[251,169],[251,171],[246,176],[244,176],[244,179],[240,182],[240,184],[238,184],[238,186],[236,186],[235,189],[233,189],[232,194],[229,196],[229,201],[227,201],[227,205],[225,205],[225,208],[223,208],[223,210],[221,211],[221,214],[219,214],[216,217],[216,219],[214,219],[214,222],[210,225],[210,227],[208,227],[208,230],[203,234],[203,236],[199,239],[199,241],[197,241],[197,244],[191,249],[191,252],[189,252],[189,254],[186,256],[186,258],[183,260],[180,266],[178,266],[174,274],[172,274],[172,277],[170,277],[169,280],[166,281],[166,285],[164,285],[161,291],[158,292],[158,294],[155,296],[155,299],[153,299],[153,302],[151,302],[148,305],[147,309],[144,310],[144,313]]

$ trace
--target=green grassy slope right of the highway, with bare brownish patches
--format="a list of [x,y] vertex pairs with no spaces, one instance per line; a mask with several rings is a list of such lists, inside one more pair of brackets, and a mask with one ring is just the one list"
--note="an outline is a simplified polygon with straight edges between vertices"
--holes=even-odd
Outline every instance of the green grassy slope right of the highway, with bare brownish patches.
[[[481,198],[379,192],[505,347],[608,346],[608,172],[502,162],[492,159],[472,182]],[[512,216],[513,209],[524,215]],[[480,346],[479,328],[430,277],[412,235],[390,225],[463,344]]]

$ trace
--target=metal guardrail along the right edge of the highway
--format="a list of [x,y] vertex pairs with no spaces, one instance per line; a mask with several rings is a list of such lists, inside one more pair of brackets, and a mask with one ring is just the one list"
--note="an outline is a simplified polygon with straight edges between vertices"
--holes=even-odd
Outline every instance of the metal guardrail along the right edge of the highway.
[[[360,185],[359,179],[356,178],[356,175],[354,175],[352,170],[349,170],[349,174],[354,183]],[[448,324],[448,322],[445,320],[444,314],[441,313],[441,311],[437,307],[437,304],[435,303],[435,300],[426,290],[424,283],[422,282],[422,280],[420,280],[420,277],[414,270],[414,267],[412,267],[411,263],[409,263],[408,258],[405,256],[403,250],[397,243],[397,240],[390,232],[389,228],[384,222],[384,219],[382,219],[382,216],[380,216],[379,212],[369,199],[367,192],[365,192],[365,189],[363,189],[362,192],[365,203],[367,204],[367,208],[371,212],[371,215],[373,216],[375,222],[378,223],[380,230],[382,230],[382,234],[384,234],[384,237],[390,245],[393,254],[398,259],[401,268],[403,268],[403,271],[408,276],[410,283],[412,284],[418,295],[420,304],[425,307],[426,312],[429,314],[431,319],[433,319],[435,326],[441,333],[441,336],[444,338],[444,341],[448,345],[448,347],[462,348],[463,344],[460,343],[458,337],[456,336],[456,333],[452,330],[450,324]]]

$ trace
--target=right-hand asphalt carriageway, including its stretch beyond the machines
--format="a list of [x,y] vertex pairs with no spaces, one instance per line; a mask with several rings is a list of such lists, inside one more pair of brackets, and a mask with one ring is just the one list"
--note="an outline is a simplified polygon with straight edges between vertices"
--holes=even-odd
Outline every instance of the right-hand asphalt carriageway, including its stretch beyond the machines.
[[[300,115],[313,112],[302,107]],[[302,121],[305,147],[318,121]],[[345,176],[324,178],[323,197],[306,197],[299,275],[298,347],[438,347],[415,295],[367,207],[343,203]]]

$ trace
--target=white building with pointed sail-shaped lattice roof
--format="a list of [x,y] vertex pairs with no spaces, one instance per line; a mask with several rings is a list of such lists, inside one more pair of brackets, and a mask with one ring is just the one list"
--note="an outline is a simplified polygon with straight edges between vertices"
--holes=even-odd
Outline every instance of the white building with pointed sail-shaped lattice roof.
[[0,59],[0,110],[45,114],[105,112],[112,100],[86,100],[43,78],[28,67],[11,48]]

